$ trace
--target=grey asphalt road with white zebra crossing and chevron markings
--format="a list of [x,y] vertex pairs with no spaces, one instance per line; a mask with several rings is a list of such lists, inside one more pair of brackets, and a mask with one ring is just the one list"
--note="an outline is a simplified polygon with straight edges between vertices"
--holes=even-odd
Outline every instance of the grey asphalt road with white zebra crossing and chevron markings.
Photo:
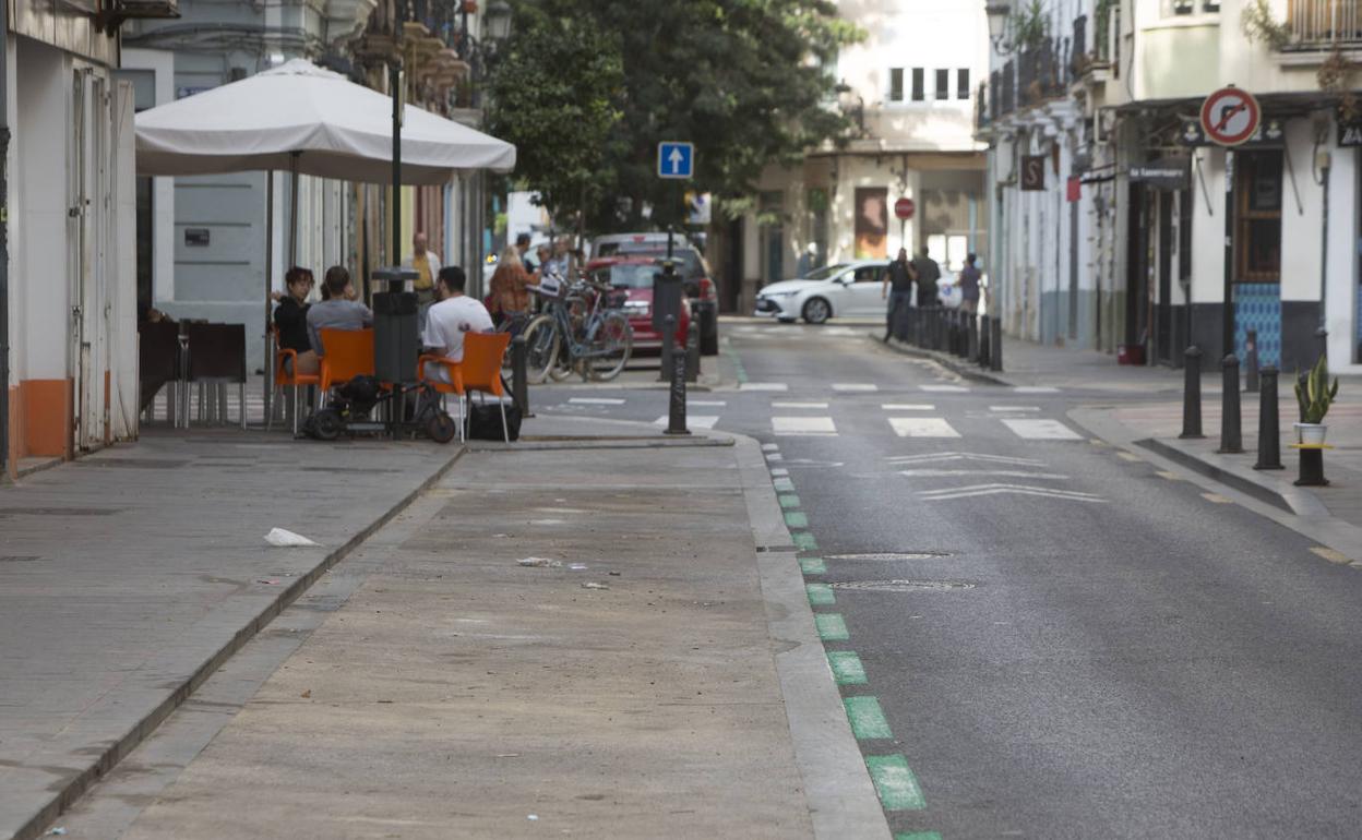
[[870,329],[726,325],[744,389],[689,413],[767,444],[862,750],[908,768],[876,776],[893,830],[1362,836],[1362,575],[1066,418],[1110,393],[962,383]]

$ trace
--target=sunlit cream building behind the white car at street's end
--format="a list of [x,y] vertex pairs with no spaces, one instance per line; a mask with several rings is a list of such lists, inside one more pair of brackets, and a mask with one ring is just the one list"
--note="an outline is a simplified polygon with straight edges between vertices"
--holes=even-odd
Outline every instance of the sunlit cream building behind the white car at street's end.
[[[727,309],[750,312],[763,285],[829,263],[928,248],[959,270],[987,246],[985,146],[974,138],[982,5],[840,0],[838,10],[866,31],[829,68],[840,90],[829,106],[854,118],[853,136],[763,173],[752,212],[716,248]],[[899,199],[914,201],[911,219],[895,218]]]

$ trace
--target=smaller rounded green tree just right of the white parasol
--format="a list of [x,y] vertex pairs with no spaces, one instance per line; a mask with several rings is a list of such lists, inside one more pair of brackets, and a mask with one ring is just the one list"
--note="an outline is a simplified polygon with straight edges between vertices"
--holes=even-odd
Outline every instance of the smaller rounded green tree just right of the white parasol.
[[[564,4],[568,5],[568,4]],[[620,121],[620,42],[584,11],[515,10],[512,35],[492,72],[492,132],[516,146],[516,178],[550,214],[599,201],[610,132]]]

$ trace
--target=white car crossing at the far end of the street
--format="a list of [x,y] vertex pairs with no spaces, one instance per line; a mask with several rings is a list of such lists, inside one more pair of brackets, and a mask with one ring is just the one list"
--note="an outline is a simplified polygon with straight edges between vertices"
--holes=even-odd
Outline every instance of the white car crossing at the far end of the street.
[[888,265],[888,260],[857,260],[771,283],[757,293],[756,314],[786,323],[802,317],[810,324],[832,317],[884,317],[888,304],[881,293]]

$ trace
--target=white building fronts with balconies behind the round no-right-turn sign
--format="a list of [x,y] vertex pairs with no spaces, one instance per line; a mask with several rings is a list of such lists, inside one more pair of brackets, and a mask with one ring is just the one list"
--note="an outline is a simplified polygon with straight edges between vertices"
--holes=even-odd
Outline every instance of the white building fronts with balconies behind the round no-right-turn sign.
[[[1017,5],[1017,4],[1013,4]],[[994,287],[1012,335],[1207,368],[1362,370],[1362,3],[1053,0],[992,50]],[[1200,128],[1254,94],[1237,148]],[[1327,339],[1324,338],[1327,335]],[[1229,338],[1229,342],[1226,342]]]

